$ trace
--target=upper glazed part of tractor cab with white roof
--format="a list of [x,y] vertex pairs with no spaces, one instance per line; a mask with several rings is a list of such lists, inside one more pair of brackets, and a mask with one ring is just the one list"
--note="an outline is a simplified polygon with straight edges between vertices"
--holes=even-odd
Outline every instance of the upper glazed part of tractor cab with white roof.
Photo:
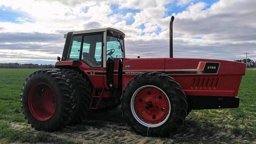
[[124,33],[113,28],[68,32],[62,61],[84,61],[92,68],[106,67],[111,58],[124,58]]

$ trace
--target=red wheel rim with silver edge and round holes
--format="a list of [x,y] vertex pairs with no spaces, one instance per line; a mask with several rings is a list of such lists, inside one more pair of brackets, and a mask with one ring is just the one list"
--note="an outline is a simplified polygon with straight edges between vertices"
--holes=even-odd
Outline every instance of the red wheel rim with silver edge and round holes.
[[[170,100],[158,87],[144,86],[135,92],[132,103],[135,118],[145,126],[159,126],[170,114]],[[132,110],[133,111],[133,110]]]

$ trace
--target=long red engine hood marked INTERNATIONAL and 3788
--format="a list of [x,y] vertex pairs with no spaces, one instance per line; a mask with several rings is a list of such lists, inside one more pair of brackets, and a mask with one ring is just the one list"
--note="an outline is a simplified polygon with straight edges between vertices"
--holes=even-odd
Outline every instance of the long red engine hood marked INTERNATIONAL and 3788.
[[200,58],[124,58],[123,87],[138,74],[162,72],[188,96],[237,96],[246,64]]

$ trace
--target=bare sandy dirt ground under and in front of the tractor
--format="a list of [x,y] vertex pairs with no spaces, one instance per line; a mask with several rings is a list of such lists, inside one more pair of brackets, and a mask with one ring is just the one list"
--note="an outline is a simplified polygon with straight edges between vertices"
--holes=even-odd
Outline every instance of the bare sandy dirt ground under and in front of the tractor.
[[[27,128],[30,132],[37,132],[30,125],[12,123],[12,128]],[[82,144],[256,144],[254,140],[236,135],[231,128],[220,128],[210,123],[198,123],[186,119],[181,129],[168,138],[143,137],[136,134],[122,119],[122,112],[116,108],[108,112],[90,112],[86,120],[76,126],[48,133],[67,141]]]

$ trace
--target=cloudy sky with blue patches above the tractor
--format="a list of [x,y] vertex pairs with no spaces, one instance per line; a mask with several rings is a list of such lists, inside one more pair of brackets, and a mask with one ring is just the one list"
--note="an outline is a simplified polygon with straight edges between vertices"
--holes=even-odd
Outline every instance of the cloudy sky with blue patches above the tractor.
[[256,0],[0,0],[0,63],[54,64],[69,31],[112,27],[126,57],[256,60]]

